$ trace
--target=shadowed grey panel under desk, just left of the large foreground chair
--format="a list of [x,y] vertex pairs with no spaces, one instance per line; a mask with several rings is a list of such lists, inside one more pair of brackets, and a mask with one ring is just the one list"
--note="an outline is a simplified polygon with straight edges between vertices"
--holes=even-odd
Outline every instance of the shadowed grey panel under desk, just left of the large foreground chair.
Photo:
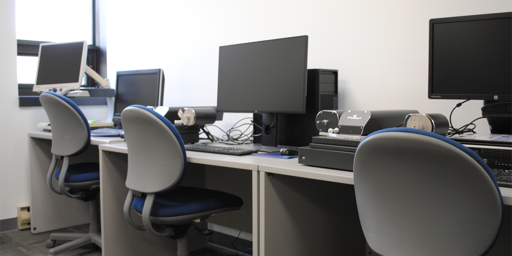
[[260,176],[260,255],[365,255],[353,185]]

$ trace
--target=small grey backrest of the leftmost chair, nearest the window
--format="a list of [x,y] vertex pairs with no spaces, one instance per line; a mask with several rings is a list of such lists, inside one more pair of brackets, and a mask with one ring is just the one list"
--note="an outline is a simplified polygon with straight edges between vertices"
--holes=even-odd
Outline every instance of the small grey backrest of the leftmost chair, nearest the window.
[[52,153],[72,156],[83,152],[91,141],[91,128],[78,106],[53,92],[41,93],[39,100],[52,127]]

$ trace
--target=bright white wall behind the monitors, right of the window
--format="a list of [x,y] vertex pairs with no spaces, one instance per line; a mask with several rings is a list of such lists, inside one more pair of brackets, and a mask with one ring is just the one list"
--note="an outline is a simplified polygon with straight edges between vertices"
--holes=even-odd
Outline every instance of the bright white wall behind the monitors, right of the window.
[[[114,1],[107,3],[108,70],[163,68],[164,104],[216,105],[219,46],[309,35],[308,68],[339,70],[340,109],[415,109],[429,100],[429,19],[512,11],[512,1]],[[454,125],[481,116],[482,101]],[[227,118],[226,118],[227,116]],[[240,116],[227,114],[223,127]],[[489,133],[485,119],[477,131]]]

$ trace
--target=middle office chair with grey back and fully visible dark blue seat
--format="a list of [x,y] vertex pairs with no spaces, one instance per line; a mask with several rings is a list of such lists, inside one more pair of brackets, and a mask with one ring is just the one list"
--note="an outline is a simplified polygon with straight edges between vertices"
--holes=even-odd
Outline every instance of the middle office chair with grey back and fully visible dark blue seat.
[[[180,186],[187,156],[180,134],[172,123],[155,111],[131,105],[121,113],[128,147],[124,218],[138,230],[178,242],[178,256],[188,256],[187,230],[194,220],[238,210],[243,201],[222,191]],[[142,226],[133,222],[131,208],[142,216]]]

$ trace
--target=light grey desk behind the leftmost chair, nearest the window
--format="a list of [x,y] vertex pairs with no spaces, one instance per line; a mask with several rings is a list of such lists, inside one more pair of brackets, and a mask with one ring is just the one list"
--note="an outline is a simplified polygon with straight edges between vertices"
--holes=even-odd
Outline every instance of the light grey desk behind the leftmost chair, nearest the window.
[[[29,132],[31,231],[40,233],[89,223],[89,203],[54,193],[46,183],[52,162],[52,134]],[[98,145],[124,142],[119,137],[91,137],[91,146],[70,163],[98,162]],[[61,163],[56,168],[60,168]],[[58,187],[57,184],[54,184]]]

